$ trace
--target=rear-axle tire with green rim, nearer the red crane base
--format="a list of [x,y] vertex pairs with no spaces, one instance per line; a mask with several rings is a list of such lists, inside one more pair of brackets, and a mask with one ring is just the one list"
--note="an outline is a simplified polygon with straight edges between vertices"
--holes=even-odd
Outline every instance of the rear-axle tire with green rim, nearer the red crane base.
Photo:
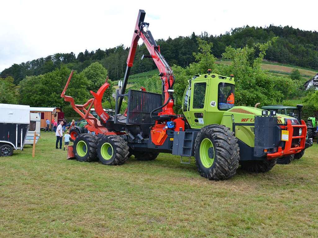
[[97,143],[97,157],[103,164],[121,165],[128,159],[128,149],[121,136],[101,136]]

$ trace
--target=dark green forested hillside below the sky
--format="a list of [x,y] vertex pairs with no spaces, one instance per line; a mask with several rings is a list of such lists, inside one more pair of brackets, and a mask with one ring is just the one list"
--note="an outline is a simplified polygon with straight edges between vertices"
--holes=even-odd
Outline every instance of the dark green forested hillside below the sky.
[[[301,67],[318,69],[318,32],[294,29],[289,26],[249,27],[232,29],[224,35],[211,36],[208,33],[201,33],[198,37],[213,43],[211,53],[221,58],[225,48],[231,45],[233,48],[243,48],[245,45],[253,46],[255,43],[265,43],[274,36],[279,36],[271,45],[264,59],[277,61],[284,64],[293,64]],[[187,67],[195,61],[193,52],[198,52],[197,36],[192,33],[190,36],[179,36],[175,39],[159,39],[162,54],[170,65]],[[129,48],[119,45],[106,50],[80,52],[77,56],[71,53],[56,53],[45,58],[39,58],[20,64],[13,64],[10,68],[4,69],[0,76],[5,78],[11,76],[14,84],[18,84],[26,76],[38,76],[61,65],[81,72],[93,62],[101,63],[113,80],[123,77],[126,68],[126,59]],[[255,56],[259,52],[255,51]],[[141,60],[141,56],[148,54],[144,45],[138,46],[136,58],[131,74],[155,69],[150,60]]]

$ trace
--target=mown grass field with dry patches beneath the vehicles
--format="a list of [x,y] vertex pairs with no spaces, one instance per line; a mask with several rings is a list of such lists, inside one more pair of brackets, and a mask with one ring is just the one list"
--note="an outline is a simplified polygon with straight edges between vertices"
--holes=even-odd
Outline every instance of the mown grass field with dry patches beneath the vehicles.
[[208,181],[160,154],[66,160],[53,133],[0,158],[0,237],[318,237],[318,146],[266,174]]

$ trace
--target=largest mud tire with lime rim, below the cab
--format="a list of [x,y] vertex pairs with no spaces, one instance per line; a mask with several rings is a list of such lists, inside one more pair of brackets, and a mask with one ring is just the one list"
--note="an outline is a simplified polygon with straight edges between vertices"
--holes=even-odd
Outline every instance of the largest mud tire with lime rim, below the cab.
[[194,145],[199,174],[209,180],[224,180],[234,176],[239,167],[237,142],[234,133],[224,125],[203,127]]

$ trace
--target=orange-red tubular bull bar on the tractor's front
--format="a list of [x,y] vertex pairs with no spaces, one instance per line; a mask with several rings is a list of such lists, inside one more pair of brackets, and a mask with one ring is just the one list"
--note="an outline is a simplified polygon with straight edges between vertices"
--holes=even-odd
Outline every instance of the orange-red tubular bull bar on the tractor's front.
[[[293,136],[294,128],[301,128],[301,136]],[[268,159],[274,159],[281,157],[282,155],[291,155],[300,152],[305,149],[306,135],[307,135],[307,126],[304,120],[301,120],[300,125],[293,125],[291,120],[287,120],[287,125],[280,126],[282,130],[288,130],[288,141],[285,142],[284,149],[278,147],[278,151],[275,153],[267,154]],[[299,145],[292,145],[293,139],[301,139]]]

